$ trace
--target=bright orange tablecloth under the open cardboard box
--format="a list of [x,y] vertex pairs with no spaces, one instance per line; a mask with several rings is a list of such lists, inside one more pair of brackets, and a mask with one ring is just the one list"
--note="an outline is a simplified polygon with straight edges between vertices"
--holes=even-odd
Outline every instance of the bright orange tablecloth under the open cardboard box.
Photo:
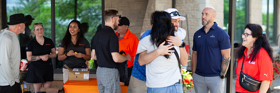
[[[98,93],[96,78],[89,81],[67,81],[64,85],[65,93]],[[128,86],[120,85],[121,93],[127,93]]]

